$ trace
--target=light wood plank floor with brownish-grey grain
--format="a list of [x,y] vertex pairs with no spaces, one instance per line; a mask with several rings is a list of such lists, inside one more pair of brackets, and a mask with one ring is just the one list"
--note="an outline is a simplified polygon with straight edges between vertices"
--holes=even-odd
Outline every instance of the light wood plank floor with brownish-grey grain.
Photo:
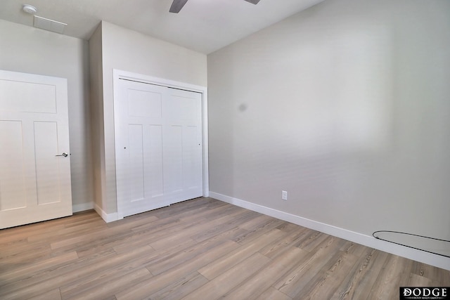
[[450,272],[210,198],[0,230],[0,299],[399,299]]

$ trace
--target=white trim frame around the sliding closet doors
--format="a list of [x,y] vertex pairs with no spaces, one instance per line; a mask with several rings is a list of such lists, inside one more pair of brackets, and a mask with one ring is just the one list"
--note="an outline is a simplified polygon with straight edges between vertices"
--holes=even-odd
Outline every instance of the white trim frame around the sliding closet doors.
[[[173,89],[182,89],[186,91],[193,91],[202,94],[202,164],[203,164],[203,197],[210,196],[210,183],[208,174],[208,101],[207,101],[207,87],[197,86],[194,84],[187,84],[181,81],[174,81],[171,79],[165,79],[160,77],[153,77],[146,74],[139,74],[124,70],[113,69],[113,93],[114,93],[114,106],[117,107],[116,101],[118,100],[120,79],[127,79],[132,81],[138,81],[144,84],[155,84],[158,86],[167,86]],[[116,187],[117,187],[117,168],[116,168]],[[117,202],[117,219],[123,219],[123,214],[120,211],[119,199]]]

